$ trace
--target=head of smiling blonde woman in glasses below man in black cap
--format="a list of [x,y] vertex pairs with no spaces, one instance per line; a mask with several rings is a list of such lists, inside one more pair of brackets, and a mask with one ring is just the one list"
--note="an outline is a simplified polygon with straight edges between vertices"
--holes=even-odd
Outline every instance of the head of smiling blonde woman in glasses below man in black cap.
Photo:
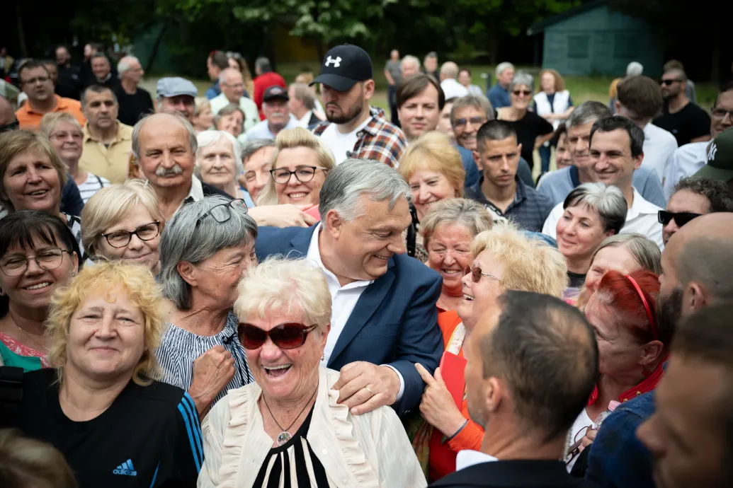
[[272,161],[272,179],[260,192],[257,205],[292,203],[320,219],[320,189],[328,171],[336,168],[323,140],[302,127],[283,130],[275,139]]

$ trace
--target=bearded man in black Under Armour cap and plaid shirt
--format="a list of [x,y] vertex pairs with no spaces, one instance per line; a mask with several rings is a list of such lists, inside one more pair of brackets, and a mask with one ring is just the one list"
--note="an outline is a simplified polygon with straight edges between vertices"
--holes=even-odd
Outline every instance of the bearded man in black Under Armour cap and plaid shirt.
[[336,157],[336,164],[348,158],[376,159],[393,168],[407,141],[402,130],[391,124],[380,108],[370,107],[374,95],[372,59],[364,49],[343,44],[326,53],[321,83],[327,121],[314,129]]

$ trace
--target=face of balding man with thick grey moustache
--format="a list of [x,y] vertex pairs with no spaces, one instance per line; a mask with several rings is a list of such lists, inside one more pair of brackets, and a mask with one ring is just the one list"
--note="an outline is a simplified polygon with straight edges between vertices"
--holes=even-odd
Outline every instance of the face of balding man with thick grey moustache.
[[139,132],[140,168],[153,187],[189,188],[196,156],[188,132],[172,116],[148,119]]

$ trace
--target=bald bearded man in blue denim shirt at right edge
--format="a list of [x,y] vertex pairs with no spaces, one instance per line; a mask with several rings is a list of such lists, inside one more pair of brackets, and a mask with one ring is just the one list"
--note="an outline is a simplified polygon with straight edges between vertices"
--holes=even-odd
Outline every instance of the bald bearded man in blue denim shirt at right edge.
[[[660,328],[674,331],[682,318],[733,299],[732,247],[733,214],[728,212],[697,217],[671,236],[662,252],[659,277]],[[605,488],[653,487],[652,455],[635,432],[654,412],[654,391],[616,408],[592,443],[586,479]],[[710,486],[686,486],[693,485]]]

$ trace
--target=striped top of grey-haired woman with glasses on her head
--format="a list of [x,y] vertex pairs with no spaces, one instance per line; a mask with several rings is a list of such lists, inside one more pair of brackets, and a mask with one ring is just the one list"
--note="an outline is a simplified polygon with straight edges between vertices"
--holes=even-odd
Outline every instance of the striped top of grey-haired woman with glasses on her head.
[[230,389],[252,383],[254,378],[249,370],[244,348],[237,338],[237,323],[237,316],[229,312],[224,329],[213,336],[199,336],[169,323],[161,339],[161,346],[155,354],[163,369],[163,383],[188,391],[194,379],[194,360],[216,345],[223,345],[224,349],[232,353],[235,371],[234,378],[221,390],[211,405],[224,398]]

